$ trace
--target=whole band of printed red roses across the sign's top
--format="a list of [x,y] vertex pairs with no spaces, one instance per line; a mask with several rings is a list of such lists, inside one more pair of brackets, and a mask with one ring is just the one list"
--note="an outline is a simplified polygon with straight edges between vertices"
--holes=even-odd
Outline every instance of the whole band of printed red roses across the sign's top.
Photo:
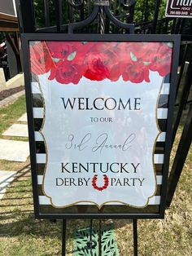
[[35,42],[30,46],[31,71],[50,72],[49,80],[77,84],[92,81],[150,82],[150,71],[170,73],[172,44],[165,42]]

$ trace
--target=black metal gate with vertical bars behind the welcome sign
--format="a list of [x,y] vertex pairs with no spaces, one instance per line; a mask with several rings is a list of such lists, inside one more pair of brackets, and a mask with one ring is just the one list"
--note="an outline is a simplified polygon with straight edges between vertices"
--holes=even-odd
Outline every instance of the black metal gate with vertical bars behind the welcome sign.
[[[188,109],[184,128],[168,178],[167,207],[177,188],[192,139],[192,19],[164,18],[165,2],[156,0],[18,0],[20,33],[166,33],[181,34],[180,70],[172,144]],[[163,11],[162,11],[163,10]],[[187,61],[187,64],[186,64]],[[187,69],[185,71],[185,67]],[[66,222],[63,222],[63,232]],[[134,254],[137,255],[137,220],[133,221]],[[65,234],[63,234],[65,236]],[[64,247],[63,247],[64,251]],[[63,252],[64,254],[64,252]]]

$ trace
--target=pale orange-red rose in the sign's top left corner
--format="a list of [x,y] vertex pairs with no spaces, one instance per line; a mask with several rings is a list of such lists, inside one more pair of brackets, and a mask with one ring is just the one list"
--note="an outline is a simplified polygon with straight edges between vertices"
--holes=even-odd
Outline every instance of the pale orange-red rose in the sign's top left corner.
[[30,46],[30,60],[32,73],[40,75],[47,73],[50,68],[54,65],[50,51],[46,46],[46,42],[36,43]]

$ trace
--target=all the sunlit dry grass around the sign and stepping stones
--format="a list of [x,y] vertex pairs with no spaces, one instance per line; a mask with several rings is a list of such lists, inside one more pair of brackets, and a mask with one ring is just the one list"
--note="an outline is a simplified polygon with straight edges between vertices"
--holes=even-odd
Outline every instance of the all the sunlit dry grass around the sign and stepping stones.
[[[19,109],[18,109],[19,108]],[[0,109],[0,135],[25,112],[24,97],[15,104]],[[3,119],[2,119],[3,118]],[[2,121],[3,120],[3,121]],[[5,123],[3,123],[5,122]],[[2,124],[3,123],[3,124]],[[172,148],[171,163],[177,151],[182,127]],[[4,170],[19,170],[27,163],[0,161]],[[138,220],[139,256],[190,256],[192,251],[192,152],[188,153],[172,205],[164,219]],[[19,179],[11,183],[0,201],[0,255],[55,256],[61,255],[62,223],[37,220],[33,214],[33,195],[30,171],[21,170]],[[109,220],[103,221],[103,225]],[[120,256],[133,255],[131,220],[113,220]],[[68,221],[68,256],[72,256],[75,229],[89,227],[89,220]],[[98,221],[94,220],[94,227]]]

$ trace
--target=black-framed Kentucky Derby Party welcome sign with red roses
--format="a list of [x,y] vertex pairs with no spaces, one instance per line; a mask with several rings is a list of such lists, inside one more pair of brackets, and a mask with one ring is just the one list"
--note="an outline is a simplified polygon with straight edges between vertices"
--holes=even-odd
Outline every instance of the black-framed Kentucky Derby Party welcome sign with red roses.
[[178,36],[25,34],[37,218],[163,218]]

